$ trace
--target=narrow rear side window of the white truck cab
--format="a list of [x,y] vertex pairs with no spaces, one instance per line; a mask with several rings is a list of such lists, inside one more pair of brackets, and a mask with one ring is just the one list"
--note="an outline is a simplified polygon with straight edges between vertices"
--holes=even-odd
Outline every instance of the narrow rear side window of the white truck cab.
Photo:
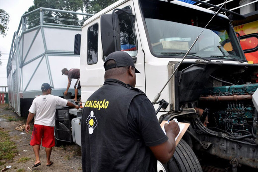
[[98,35],[98,23],[88,28],[87,64],[95,64],[98,62]]

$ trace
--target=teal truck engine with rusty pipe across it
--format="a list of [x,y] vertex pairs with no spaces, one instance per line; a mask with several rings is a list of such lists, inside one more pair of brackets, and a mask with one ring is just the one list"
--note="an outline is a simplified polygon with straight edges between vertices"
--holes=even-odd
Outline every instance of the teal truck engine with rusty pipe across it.
[[206,104],[209,128],[254,136],[257,111],[252,102],[252,94],[257,88],[258,84],[247,82],[243,85],[206,89],[199,100]]

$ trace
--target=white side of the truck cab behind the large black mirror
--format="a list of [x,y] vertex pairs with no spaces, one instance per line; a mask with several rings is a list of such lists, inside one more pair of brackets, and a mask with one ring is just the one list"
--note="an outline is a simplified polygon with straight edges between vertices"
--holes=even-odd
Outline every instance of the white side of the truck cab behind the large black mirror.
[[[132,9],[133,2],[129,1],[116,7],[119,9]],[[107,13],[112,13],[110,10]],[[135,67],[141,73],[136,74],[136,87],[146,92],[144,53],[140,44],[140,36],[136,20],[122,11],[116,11],[119,19],[121,51],[131,55],[135,62]],[[80,78],[82,102],[86,102],[88,97],[100,88],[104,83],[104,60],[101,40],[100,17],[93,19],[82,28],[81,53],[80,53]]]

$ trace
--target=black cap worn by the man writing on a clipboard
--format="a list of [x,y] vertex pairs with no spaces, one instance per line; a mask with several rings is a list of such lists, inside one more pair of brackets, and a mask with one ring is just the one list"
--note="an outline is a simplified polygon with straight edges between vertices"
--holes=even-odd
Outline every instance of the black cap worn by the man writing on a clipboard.
[[[106,65],[106,62],[111,59],[115,60],[116,63]],[[141,73],[135,68],[132,57],[124,51],[115,51],[115,52],[109,54],[104,63],[105,71],[108,69],[123,67],[123,66],[132,66],[135,69],[135,73]]]

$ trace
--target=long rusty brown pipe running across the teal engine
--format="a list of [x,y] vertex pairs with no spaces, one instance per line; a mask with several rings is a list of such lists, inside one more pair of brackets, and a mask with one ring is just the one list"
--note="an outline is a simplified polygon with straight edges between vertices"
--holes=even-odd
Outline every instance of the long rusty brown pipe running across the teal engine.
[[207,96],[200,97],[200,101],[238,101],[238,100],[252,100],[252,95],[233,95],[233,96]]

